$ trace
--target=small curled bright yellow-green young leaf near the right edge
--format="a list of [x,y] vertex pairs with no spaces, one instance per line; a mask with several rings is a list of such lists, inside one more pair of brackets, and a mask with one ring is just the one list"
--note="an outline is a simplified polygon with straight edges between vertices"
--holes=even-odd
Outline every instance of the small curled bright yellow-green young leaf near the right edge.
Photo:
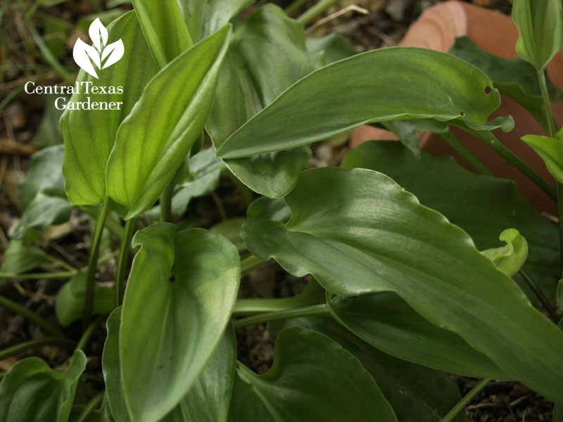
[[493,261],[495,267],[509,277],[514,276],[521,269],[528,257],[528,243],[517,229],[506,229],[498,236],[506,245],[481,251],[483,255]]

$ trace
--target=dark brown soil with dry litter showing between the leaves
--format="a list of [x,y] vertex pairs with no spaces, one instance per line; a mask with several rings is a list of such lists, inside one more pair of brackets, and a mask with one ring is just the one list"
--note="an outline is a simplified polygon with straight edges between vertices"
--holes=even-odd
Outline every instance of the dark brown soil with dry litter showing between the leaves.
[[[290,1],[276,1],[286,6]],[[346,37],[359,51],[367,51],[384,46],[393,46],[400,41],[410,23],[426,7],[436,3],[434,0],[342,0],[339,6],[327,11],[331,15],[340,8],[357,4],[367,10],[367,14],[350,12],[331,20],[316,30],[315,35],[335,31]],[[474,0],[474,4],[510,13],[507,0]],[[28,1],[29,4],[34,2]],[[103,2],[102,2],[103,3]],[[315,1],[310,1],[310,5]],[[0,5],[1,6],[1,5]],[[1,7],[0,7],[1,8]],[[41,12],[60,18],[72,27],[79,18],[94,13],[90,0],[72,1],[51,8],[40,8]],[[37,30],[43,28],[37,22]],[[14,89],[30,79],[41,77],[42,84],[61,83],[60,77],[49,70],[41,55],[34,47],[30,32],[25,27],[23,15],[15,6],[8,6],[2,21],[0,40],[0,65],[9,65],[11,70],[0,71],[0,101],[9,97],[8,106],[1,110],[0,118],[0,250],[8,244],[8,231],[18,219],[18,181],[23,179],[29,165],[29,157],[36,151],[34,136],[42,118],[43,106],[39,98],[18,94]],[[77,37],[75,30],[70,30],[66,39],[67,48],[63,50],[61,63],[72,68],[71,49]],[[25,66],[25,69],[22,68]],[[338,165],[346,153],[346,144],[341,146],[320,145],[314,148],[312,165]],[[229,217],[243,216],[244,203],[232,181],[222,178],[218,195]],[[217,205],[211,198],[198,198],[189,205],[190,224],[205,228],[221,219]],[[68,233],[56,240],[46,242],[43,247],[51,253],[67,260],[75,267],[87,264],[89,250],[89,218],[75,212],[70,222]],[[108,279],[108,274],[115,271],[115,261],[110,261],[101,268],[100,278]],[[11,281],[0,284],[0,295],[19,302],[34,310],[51,323],[54,317],[54,297],[63,280]],[[277,264],[250,271],[241,281],[240,297],[243,298],[285,298],[296,295],[305,286],[304,279],[296,279],[286,274]],[[77,323],[65,330],[71,338],[79,338],[81,326]],[[28,323],[21,316],[0,307],[0,350],[23,341],[40,338],[44,335],[39,328]],[[88,371],[98,373],[84,383],[79,390],[82,397],[78,402],[85,402],[94,394],[94,386],[101,383],[101,363],[99,356],[103,347],[105,333],[103,329],[96,333],[91,341]],[[239,345],[239,359],[257,371],[265,373],[274,359],[274,344],[268,335],[265,324],[242,328],[236,332]],[[60,347],[42,347],[34,352],[25,352],[15,358],[0,362],[0,371],[7,371],[17,360],[28,356],[39,356],[53,367],[61,368],[67,362],[69,353]],[[96,357],[97,356],[97,357]],[[478,381],[473,378],[453,376],[462,394],[471,390]],[[552,403],[539,397],[519,383],[490,383],[467,407],[471,421],[479,422],[535,422],[551,421]]]

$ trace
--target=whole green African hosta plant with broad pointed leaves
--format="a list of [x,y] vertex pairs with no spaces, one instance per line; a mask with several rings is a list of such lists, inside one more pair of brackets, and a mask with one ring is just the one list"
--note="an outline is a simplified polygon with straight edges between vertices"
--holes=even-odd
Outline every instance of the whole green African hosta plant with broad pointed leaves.
[[[531,65],[501,63],[510,72],[487,68],[499,59],[471,46],[457,55],[479,56],[484,72],[424,49],[354,55],[334,35],[305,39],[272,4],[236,18],[251,3],[134,0],[108,27],[122,60],[99,79],[79,73],[122,87],[97,98],[122,108],[65,111],[64,148],[37,154],[23,182],[2,275],[70,278],[56,315],[61,326],[82,319],[84,334],[74,343],[1,299],[46,332],[1,357],[51,343],[75,351],[65,371],[37,357],[15,364],[0,383],[0,421],[464,421],[460,410],[491,379],[563,402],[563,332],[540,312],[557,318],[557,226],[512,182],[413,142],[430,129],[462,148],[449,127],[462,128],[560,198],[491,133],[512,119],[488,119],[498,89],[529,107],[549,136],[525,141],[563,182],[549,108],[560,93],[544,77],[563,44],[559,1],[514,1],[518,51]],[[341,167],[303,171],[311,143],[367,123],[398,132],[406,148],[365,143]],[[189,201],[213,192],[220,172],[260,198],[245,219],[182,229]],[[65,198],[96,216],[85,269],[30,243],[68,219]],[[120,248],[99,259],[104,227]],[[115,286],[99,286],[96,269],[115,255]],[[241,273],[269,260],[310,274],[303,293],[237,299]],[[66,271],[30,273],[57,265]],[[85,352],[104,322],[103,383],[79,405],[80,378],[92,376]],[[263,375],[237,361],[234,340],[234,329],[260,323],[276,347]],[[483,381],[462,398],[448,373]]]

